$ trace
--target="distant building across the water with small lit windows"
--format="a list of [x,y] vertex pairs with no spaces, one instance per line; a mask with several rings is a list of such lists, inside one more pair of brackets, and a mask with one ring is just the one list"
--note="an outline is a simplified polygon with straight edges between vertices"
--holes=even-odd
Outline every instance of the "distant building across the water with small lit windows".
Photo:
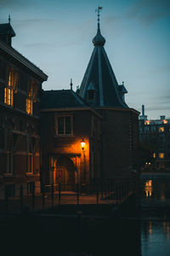
[[170,172],[170,119],[139,116],[140,166],[143,171]]

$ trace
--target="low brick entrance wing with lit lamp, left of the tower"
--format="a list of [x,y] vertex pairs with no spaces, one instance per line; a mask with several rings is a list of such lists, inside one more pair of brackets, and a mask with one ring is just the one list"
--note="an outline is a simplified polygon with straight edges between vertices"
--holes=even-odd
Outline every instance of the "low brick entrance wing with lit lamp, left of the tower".
[[73,90],[43,91],[41,122],[43,183],[94,183],[101,177],[97,111]]

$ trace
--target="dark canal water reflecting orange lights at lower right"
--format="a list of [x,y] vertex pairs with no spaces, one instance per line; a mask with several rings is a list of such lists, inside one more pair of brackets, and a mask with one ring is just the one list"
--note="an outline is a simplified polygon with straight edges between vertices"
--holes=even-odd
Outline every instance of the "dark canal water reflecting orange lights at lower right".
[[140,184],[141,256],[169,256],[170,179],[144,177]]

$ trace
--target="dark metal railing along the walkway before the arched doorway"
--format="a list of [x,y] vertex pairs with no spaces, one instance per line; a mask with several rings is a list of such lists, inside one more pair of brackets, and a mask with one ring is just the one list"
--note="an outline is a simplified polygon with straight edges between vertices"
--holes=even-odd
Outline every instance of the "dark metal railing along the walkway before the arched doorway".
[[2,192],[4,199],[0,201],[0,214],[6,216],[20,212],[41,211],[61,204],[119,204],[133,192],[133,180],[116,177],[96,184],[59,183],[35,186],[32,183],[29,195],[24,192],[23,185],[20,185],[12,195],[8,186]]

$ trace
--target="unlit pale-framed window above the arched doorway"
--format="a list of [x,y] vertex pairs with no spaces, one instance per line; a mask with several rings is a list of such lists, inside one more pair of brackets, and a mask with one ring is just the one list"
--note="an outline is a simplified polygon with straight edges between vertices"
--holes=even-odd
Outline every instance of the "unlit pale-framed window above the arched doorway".
[[71,116],[57,117],[57,134],[58,135],[72,134]]

